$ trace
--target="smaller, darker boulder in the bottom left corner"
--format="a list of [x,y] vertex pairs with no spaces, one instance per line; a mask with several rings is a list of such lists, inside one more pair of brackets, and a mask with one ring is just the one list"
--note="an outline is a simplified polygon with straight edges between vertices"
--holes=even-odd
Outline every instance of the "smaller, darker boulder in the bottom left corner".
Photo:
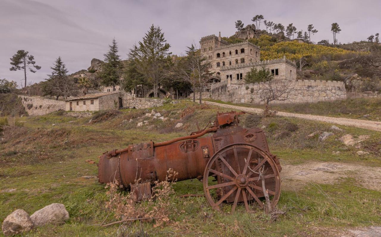
[[17,209],[5,218],[2,229],[4,235],[9,236],[30,231],[33,227],[34,224],[28,213],[22,209]]

